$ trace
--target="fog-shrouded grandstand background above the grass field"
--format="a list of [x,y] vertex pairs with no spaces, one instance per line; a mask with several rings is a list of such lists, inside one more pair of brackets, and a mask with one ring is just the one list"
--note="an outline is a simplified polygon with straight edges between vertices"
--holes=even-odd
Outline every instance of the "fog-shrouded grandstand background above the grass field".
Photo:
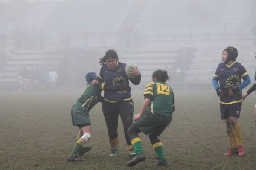
[[57,87],[84,86],[108,49],[137,64],[143,88],[157,69],[172,86],[211,86],[227,46],[253,80],[255,9],[255,0],[0,0],[0,87],[21,74],[39,86],[52,70]]

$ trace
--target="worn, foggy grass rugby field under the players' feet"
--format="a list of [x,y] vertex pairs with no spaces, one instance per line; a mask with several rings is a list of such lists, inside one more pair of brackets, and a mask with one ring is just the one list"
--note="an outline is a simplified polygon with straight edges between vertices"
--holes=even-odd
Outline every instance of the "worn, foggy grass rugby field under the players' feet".
[[[56,92],[0,91],[0,169],[122,170],[129,169],[122,123],[119,120],[119,156],[109,157],[110,145],[101,109],[90,111],[93,149],[82,163],[66,161],[76,142],[70,109],[81,95],[80,90],[59,89]],[[246,154],[224,157],[230,146],[224,121],[220,119],[215,90],[175,90],[176,110],[172,123],[160,136],[168,168],[154,167],[154,150],[147,135],[140,133],[146,160],[130,169],[255,169],[256,124],[253,119],[255,94],[243,103],[240,124]],[[245,92],[245,90],[244,90]],[[135,112],[143,102],[143,90],[132,91]]]

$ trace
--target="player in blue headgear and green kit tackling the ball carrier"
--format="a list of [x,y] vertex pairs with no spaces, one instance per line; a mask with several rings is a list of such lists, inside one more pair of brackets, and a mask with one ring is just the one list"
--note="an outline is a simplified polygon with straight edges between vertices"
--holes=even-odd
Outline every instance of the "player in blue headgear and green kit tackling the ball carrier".
[[84,147],[86,142],[92,137],[89,111],[98,101],[101,101],[101,91],[131,91],[131,87],[129,86],[114,86],[106,85],[105,83],[93,84],[92,81],[97,77],[95,72],[87,73],[85,78],[88,84],[81,97],[71,109],[72,123],[73,126],[79,127],[79,133],[77,142],[70,155],[67,157],[67,161],[85,161],[83,158],[79,158],[78,155],[81,156],[91,149],[91,147]]

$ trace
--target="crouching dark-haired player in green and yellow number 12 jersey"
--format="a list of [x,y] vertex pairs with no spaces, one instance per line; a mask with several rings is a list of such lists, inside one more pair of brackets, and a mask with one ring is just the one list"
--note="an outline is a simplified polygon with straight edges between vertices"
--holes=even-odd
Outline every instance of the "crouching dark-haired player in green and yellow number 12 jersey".
[[174,95],[172,88],[165,82],[169,80],[166,70],[157,70],[152,75],[153,82],[149,83],[144,92],[144,101],[140,112],[134,115],[134,123],[128,129],[128,136],[134,147],[136,156],[128,162],[128,166],[134,166],[146,157],[143,153],[141,139],[138,133],[149,134],[149,139],[157,153],[157,166],[167,166],[163,153],[163,144],[159,136],[172,121],[175,111]]

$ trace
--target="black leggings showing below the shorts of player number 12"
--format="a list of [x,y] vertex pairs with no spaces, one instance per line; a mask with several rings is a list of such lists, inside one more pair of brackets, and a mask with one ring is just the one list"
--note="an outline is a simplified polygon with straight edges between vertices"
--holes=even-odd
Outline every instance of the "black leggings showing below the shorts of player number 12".
[[[140,133],[141,131],[134,125],[132,124],[128,131],[127,131],[127,134],[130,138],[130,140],[136,138],[136,137],[139,137],[138,133]],[[148,136],[149,136],[149,140],[151,141],[151,144],[155,144],[157,142],[160,142],[160,139],[158,138],[157,134],[155,133],[154,130],[152,130],[150,133],[148,133]]]

